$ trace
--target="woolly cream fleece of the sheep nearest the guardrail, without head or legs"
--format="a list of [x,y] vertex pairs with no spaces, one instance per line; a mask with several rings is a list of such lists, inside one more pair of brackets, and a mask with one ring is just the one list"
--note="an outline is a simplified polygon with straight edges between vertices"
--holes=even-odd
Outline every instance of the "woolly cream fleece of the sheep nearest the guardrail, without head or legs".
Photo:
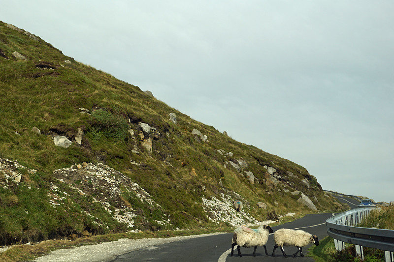
[[278,246],[304,247],[311,243],[311,234],[303,230],[279,229],[274,233]]

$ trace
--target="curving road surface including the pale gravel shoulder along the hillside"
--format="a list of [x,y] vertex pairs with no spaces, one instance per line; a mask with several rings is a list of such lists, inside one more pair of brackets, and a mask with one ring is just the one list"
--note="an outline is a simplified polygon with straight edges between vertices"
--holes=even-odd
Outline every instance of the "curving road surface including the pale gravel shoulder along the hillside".
[[[357,208],[356,200],[337,198],[347,203],[351,208]],[[316,234],[319,240],[327,236],[326,220],[331,213],[311,214],[296,221],[272,227],[275,232],[281,228],[302,229]],[[247,261],[314,261],[309,257],[284,258],[281,250],[276,249],[275,257],[272,258],[274,247],[273,236],[270,235],[266,244],[268,256],[264,248],[258,247],[256,257],[253,257],[253,248],[241,247],[242,258],[238,256],[236,246],[233,257],[230,257],[232,233],[216,233],[200,236],[185,236],[172,238],[153,239],[120,239],[118,241],[101,243],[96,245],[81,246],[73,249],[61,249],[37,258],[36,262],[247,262]],[[303,248],[302,252],[307,255],[307,249],[312,244]],[[296,247],[285,247],[288,257],[297,251]]]

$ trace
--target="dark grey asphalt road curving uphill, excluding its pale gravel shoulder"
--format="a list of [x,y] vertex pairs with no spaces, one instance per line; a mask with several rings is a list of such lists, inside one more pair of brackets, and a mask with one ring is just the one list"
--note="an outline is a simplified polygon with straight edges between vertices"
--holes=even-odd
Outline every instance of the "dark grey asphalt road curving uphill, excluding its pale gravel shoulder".
[[[342,203],[347,203],[351,208],[356,208],[358,201],[347,198],[337,198]],[[326,220],[331,217],[331,213],[311,214],[296,221],[272,227],[274,231],[281,228],[302,229],[312,234],[316,234],[319,239],[327,236]],[[173,261],[188,261],[188,262],[232,262],[239,261],[238,253],[234,250],[234,256],[230,257],[232,233],[210,235],[202,238],[193,238],[184,241],[166,243],[163,245],[153,245],[144,249],[135,250],[121,256],[118,256],[112,262],[131,262],[131,261],[157,261],[157,262],[173,262]],[[272,249],[274,246],[273,237],[268,238],[266,244],[268,256],[264,253],[263,247],[258,247],[256,251],[256,258],[252,256],[253,248],[241,248],[243,256],[242,261],[254,261],[258,258],[264,262],[270,261],[286,261],[280,249],[275,252],[275,258],[272,258]],[[309,246],[308,246],[309,247]],[[297,251],[296,247],[285,247],[285,252],[291,256]],[[307,254],[307,247],[303,249],[304,255]],[[312,262],[312,258],[302,258],[298,255],[292,258],[292,261]]]

